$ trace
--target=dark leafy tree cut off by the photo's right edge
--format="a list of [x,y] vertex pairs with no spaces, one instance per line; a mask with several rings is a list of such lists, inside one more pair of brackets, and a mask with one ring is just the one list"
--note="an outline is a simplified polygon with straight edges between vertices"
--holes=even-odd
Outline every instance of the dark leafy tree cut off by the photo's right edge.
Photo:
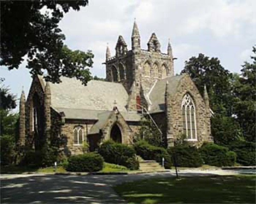
[[247,141],[256,141],[256,47],[253,47],[252,63],[244,62],[241,76],[233,82],[235,96],[234,113]]

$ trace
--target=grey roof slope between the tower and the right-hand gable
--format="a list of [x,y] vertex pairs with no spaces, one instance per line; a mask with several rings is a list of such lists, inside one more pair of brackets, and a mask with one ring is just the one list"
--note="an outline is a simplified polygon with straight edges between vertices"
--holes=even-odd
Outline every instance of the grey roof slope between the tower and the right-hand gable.
[[166,82],[168,81],[169,84],[169,93],[171,95],[175,94],[177,91],[177,86],[180,82],[180,79],[182,79],[184,75],[178,75],[173,77],[166,77],[165,79],[161,79],[157,81],[154,88],[152,89],[149,99],[152,103],[150,106],[150,113],[156,113],[164,111],[165,109],[165,91],[166,91]]

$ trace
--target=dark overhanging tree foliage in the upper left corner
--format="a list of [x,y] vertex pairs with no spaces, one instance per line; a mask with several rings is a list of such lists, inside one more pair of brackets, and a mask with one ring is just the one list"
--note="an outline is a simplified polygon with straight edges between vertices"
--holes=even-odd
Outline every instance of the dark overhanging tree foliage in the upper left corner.
[[[60,77],[76,77],[85,85],[90,79],[86,67],[93,64],[91,51],[71,51],[64,45],[65,36],[58,23],[70,8],[79,11],[88,0],[27,0],[1,2],[1,61],[12,70],[27,56],[32,75],[60,82]],[[43,14],[43,8],[47,11]]]

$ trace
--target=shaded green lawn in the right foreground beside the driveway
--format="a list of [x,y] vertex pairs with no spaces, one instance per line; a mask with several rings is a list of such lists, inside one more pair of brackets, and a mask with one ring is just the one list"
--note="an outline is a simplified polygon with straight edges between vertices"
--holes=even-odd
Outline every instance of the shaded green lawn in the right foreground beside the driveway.
[[256,176],[154,178],[114,190],[129,203],[255,203]]

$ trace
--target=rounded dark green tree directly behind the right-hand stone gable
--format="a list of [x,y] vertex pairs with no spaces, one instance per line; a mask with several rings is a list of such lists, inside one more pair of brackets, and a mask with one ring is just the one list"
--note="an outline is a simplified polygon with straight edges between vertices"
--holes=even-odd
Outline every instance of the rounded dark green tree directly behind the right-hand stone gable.
[[230,93],[232,74],[221,66],[218,58],[209,58],[204,54],[191,57],[185,61],[185,68],[181,73],[189,74],[202,96],[206,85],[210,107],[215,113],[222,115],[230,113],[233,102]]

